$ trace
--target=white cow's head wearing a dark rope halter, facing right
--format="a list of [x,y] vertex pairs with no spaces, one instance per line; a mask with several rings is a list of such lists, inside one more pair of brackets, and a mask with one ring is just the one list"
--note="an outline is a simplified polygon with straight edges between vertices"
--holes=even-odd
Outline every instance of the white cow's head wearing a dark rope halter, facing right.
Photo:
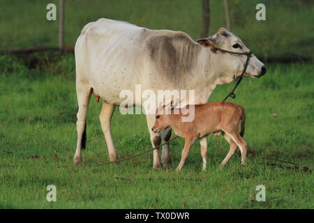
[[[197,40],[197,43],[202,45],[202,47],[207,47],[211,51],[211,64],[213,65],[211,68],[213,72],[223,75],[223,77],[232,81],[241,75],[244,64],[246,63],[246,55],[230,54],[215,50],[219,48],[231,52],[249,52],[250,49],[242,43],[240,38],[227,31],[227,29],[220,28],[215,35]],[[266,68],[264,64],[254,54],[251,54],[245,75],[261,77],[265,73]]]

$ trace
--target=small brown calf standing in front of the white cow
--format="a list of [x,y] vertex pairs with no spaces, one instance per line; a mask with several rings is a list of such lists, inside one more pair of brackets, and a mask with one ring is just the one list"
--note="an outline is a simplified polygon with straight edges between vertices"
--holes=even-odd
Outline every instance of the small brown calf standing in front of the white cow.
[[[191,105],[187,105],[185,109],[190,109]],[[184,150],[181,154],[181,161],[177,167],[180,171],[186,161],[190,146],[195,139],[200,139],[201,153],[203,158],[202,169],[206,169],[207,164],[207,135],[210,133],[223,134],[223,137],[230,144],[230,151],[221,162],[221,166],[225,165],[233,153],[239,146],[241,151],[241,164],[245,164],[247,146],[246,141],[242,139],[244,135],[244,126],[246,121],[246,113],[240,105],[231,102],[211,102],[204,105],[195,106],[195,118],[191,122],[183,122],[182,117],[186,116],[186,112],[182,109],[170,109],[166,114],[165,106],[156,112],[156,120],[153,132],[159,132],[165,128],[171,127],[176,134],[184,137]],[[190,110],[189,110],[190,111]],[[241,119],[241,132],[239,133],[238,125]]]

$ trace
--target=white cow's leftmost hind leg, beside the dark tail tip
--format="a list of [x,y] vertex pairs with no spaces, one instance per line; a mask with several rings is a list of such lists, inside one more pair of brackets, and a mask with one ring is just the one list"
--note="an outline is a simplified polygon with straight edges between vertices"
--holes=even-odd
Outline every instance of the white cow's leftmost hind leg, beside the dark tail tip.
[[82,161],[81,149],[86,145],[86,118],[91,98],[90,86],[77,84],[76,86],[78,111],[77,111],[77,145],[75,155],[73,157],[74,164],[79,164]]

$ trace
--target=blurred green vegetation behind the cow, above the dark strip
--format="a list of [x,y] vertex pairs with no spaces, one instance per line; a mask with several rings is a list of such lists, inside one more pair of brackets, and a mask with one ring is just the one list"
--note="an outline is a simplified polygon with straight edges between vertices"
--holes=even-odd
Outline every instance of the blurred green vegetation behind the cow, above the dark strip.
[[[47,21],[48,3],[56,0],[1,0],[0,51],[57,47],[58,21]],[[266,21],[257,21],[257,3],[266,6]],[[59,12],[57,12],[59,17]],[[100,17],[149,29],[184,31],[200,38],[201,0],[66,0],[65,45],[73,47],[82,27]],[[232,32],[263,61],[310,59],[314,48],[314,1],[230,0]],[[209,35],[225,27],[222,0],[210,0]]]

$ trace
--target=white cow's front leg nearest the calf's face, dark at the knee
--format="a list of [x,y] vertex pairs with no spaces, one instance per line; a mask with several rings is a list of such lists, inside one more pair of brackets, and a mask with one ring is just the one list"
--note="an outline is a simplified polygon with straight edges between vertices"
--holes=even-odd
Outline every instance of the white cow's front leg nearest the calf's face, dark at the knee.
[[[149,134],[151,136],[151,145],[153,147],[159,146],[161,142],[160,133],[155,133],[151,130],[153,128],[154,122],[155,122],[155,116],[151,114],[146,115],[147,118],[147,127],[149,128]],[[161,167],[159,155],[158,155],[158,149],[154,150],[154,162],[153,162],[153,168],[158,169]]]

